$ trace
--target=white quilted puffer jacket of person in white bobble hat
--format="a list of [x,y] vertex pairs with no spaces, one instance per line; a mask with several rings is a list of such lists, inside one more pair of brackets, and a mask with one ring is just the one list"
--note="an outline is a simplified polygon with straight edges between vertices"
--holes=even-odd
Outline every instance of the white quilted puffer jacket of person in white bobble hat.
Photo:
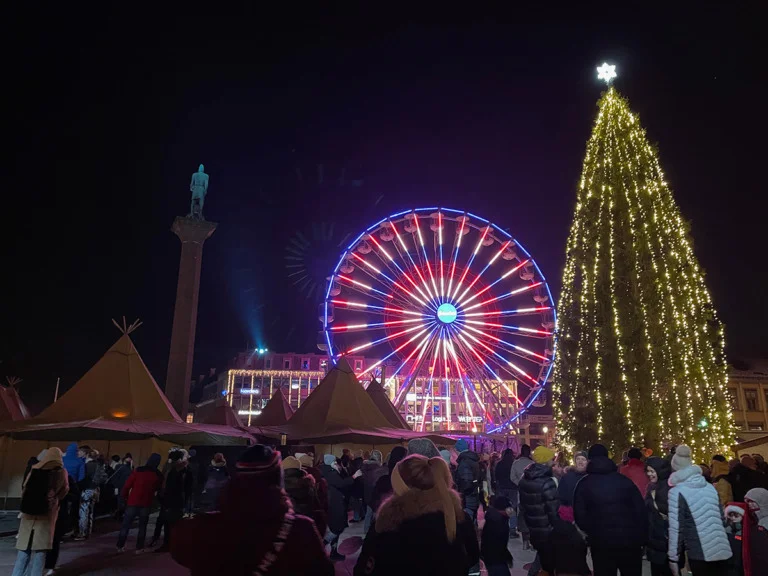
[[717,490],[688,466],[669,477],[669,559],[677,561],[682,545],[692,560],[716,562],[731,557]]

